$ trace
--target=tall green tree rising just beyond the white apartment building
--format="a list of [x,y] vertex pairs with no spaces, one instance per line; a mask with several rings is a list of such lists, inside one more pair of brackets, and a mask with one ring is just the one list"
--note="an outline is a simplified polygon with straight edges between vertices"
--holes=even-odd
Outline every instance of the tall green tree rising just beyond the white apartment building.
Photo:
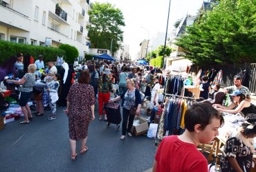
[[125,21],[122,11],[111,3],[98,2],[91,3],[91,9],[91,25],[87,25],[91,47],[110,50],[112,41],[113,54],[121,47],[123,41],[121,27],[125,26]]

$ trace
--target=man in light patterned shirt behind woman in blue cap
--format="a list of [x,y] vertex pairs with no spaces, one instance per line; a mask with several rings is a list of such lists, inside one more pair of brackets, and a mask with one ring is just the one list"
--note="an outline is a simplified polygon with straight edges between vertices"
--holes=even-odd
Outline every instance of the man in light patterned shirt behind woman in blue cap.
[[234,76],[234,85],[230,87],[223,88],[224,93],[232,94],[232,92],[235,92],[235,90],[239,90],[242,94],[246,96],[246,100],[250,102],[250,91],[248,87],[245,87],[244,85],[241,85],[241,76]]

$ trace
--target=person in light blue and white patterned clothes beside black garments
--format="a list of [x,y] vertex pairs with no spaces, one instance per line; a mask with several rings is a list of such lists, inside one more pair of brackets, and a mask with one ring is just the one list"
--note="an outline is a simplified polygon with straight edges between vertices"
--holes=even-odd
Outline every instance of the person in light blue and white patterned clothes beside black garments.
[[55,120],[56,119],[56,102],[59,99],[58,96],[58,89],[60,87],[60,83],[58,80],[60,80],[60,74],[55,74],[55,76],[52,76],[53,80],[46,83],[46,91],[49,94],[49,104],[51,107],[51,115],[48,116],[48,120]]

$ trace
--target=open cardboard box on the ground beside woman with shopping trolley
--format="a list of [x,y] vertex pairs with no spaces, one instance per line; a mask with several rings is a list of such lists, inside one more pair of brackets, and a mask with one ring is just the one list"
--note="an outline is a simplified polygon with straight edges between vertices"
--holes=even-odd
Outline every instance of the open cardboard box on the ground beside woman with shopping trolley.
[[139,120],[140,124],[138,126],[132,126],[131,127],[131,133],[134,134],[134,136],[139,136],[144,133],[147,133],[147,130],[149,129],[149,125],[147,124],[147,120],[142,117],[135,116],[134,120]]

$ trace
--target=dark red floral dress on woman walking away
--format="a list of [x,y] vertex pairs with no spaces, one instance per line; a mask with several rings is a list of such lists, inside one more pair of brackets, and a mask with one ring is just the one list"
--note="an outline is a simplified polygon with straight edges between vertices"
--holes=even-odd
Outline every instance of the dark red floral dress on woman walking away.
[[75,83],[66,98],[70,102],[68,111],[68,129],[71,140],[80,140],[88,136],[91,120],[91,106],[95,104],[93,86]]

